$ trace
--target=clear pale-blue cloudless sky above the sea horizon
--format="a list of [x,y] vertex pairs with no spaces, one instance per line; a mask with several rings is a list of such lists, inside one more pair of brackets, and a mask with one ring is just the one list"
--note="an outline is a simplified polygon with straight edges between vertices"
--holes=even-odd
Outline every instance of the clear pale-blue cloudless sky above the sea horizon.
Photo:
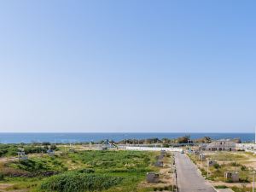
[[254,131],[255,1],[1,1],[0,131]]

